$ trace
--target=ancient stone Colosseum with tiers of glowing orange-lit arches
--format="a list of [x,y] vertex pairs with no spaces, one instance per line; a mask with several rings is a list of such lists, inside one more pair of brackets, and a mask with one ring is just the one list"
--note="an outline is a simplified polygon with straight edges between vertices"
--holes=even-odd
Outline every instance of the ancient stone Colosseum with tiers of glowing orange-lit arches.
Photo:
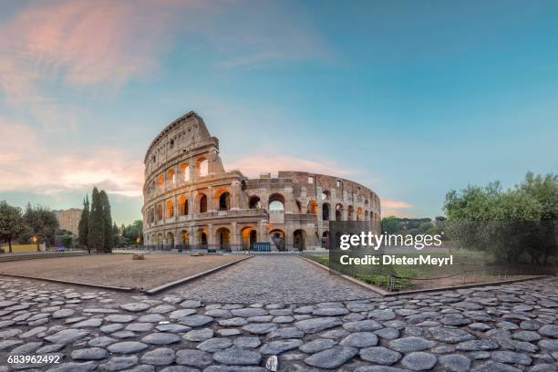
[[327,249],[331,221],[378,225],[380,200],[341,177],[279,171],[248,178],[225,171],[219,140],[191,111],[145,155],[144,244],[158,249]]

